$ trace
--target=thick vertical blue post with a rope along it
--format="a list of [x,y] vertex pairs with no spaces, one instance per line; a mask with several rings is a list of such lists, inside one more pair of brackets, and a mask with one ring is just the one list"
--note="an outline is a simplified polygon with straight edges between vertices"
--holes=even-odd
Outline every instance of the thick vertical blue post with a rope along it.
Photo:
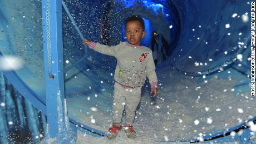
[[55,138],[58,134],[57,95],[61,95],[61,100],[65,97],[61,6],[61,0],[42,0],[46,110],[48,134],[51,138]]

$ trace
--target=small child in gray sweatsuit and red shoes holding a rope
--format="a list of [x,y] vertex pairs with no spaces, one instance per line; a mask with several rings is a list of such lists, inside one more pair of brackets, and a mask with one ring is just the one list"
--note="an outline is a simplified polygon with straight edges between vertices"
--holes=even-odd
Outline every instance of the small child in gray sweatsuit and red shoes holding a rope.
[[132,127],[137,105],[140,102],[141,87],[146,77],[149,78],[151,92],[157,96],[157,77],[154,59],[150,48],[140,45],[145,37],[145,24],[141,17],[131,16],[125,21],[125,36],[127,42],[120,42],[116,46],[105,46],[100,43],[90,42],[88,39],[83,44],[94,51],[117,59],[115,69],[114,102],[113,102],[113,125],[109,128],[107,137],[111,140],[122,129],[122,112],[125,109],[126,120],[124,130],[127,137],[135,138],[136,132]]

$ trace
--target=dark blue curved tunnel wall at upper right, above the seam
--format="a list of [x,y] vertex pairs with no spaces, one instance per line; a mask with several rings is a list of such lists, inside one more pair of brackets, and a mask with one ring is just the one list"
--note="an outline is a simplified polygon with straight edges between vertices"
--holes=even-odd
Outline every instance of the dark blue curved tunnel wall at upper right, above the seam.
[[[244,51],[243,63],[248,62],[250,23],[242,19],[250,17],[247,2],[174,0],[173,3],[181,21],[180,38],[169,59],[175,67],[199,72],[236,58]],[[233,18],[234,13],[237,16]],[[230,27],[226,28],[226,24]],[[203,66],[195,66],[195,62]]]

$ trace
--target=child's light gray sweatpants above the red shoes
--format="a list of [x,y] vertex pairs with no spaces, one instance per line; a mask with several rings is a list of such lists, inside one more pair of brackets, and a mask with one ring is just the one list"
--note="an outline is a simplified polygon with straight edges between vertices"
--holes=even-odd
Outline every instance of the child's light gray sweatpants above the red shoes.
[[140,102],[141,87],[122,88],[119,83],[114,85],[113,102],[113,123],[119,124],[122,121],[122,112],[125,108],[125,125],[132,125],[135,111]]

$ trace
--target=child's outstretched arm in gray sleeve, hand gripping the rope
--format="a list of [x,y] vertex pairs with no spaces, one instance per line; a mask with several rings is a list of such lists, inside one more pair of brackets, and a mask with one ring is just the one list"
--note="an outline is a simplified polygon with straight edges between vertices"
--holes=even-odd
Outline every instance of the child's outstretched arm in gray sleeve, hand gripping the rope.
[[107,54],[109,56],[116,56],[116,48],[106,46],[104,44],[90,42],[88,39],[85,39],[82,44],[87,44],[89,48],[93,49],[96,52]]

